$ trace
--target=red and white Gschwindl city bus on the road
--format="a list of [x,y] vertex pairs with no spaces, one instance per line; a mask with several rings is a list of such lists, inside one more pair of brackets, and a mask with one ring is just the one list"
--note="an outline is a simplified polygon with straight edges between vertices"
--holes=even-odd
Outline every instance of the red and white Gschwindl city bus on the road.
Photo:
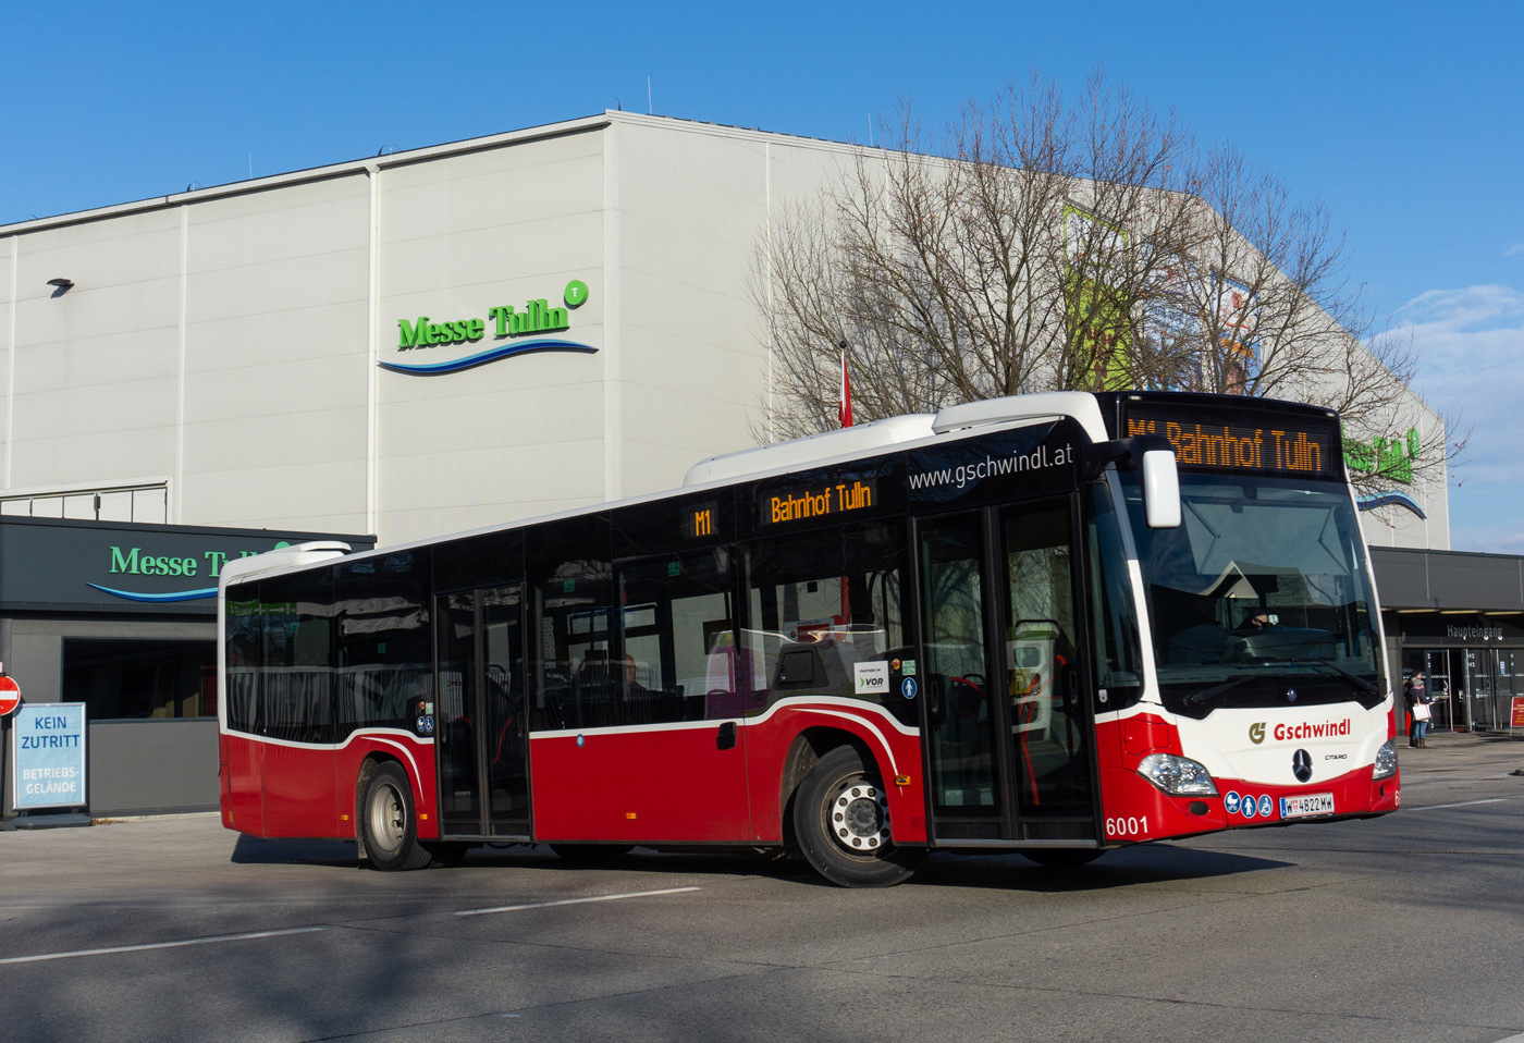
[[1399,804],[1337,415],[1024,395],[445,540],[229,563],[223,822],[378,869],[482,843],[1047,865]]

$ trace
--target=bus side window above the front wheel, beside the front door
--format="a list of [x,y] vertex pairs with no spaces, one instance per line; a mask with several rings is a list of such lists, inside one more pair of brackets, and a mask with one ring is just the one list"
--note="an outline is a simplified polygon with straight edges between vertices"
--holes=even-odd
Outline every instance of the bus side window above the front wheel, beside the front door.
[[904,540],[902,523],[869,522],[780,532],[745,549],[750,615],[739,680],[748,709],[785,695],[835,695],[879,701],[914,723],[914,706],[895,685],[860,685],[860,677],[887,679],[890,662],[913,654],[902,605]]

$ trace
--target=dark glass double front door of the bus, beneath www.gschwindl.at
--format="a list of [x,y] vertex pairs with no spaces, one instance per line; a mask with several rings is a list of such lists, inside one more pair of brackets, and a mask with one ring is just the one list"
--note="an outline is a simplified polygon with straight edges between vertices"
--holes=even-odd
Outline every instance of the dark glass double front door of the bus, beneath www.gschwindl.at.
[[917,523],[937,840],[1096,839],[1070,497]]

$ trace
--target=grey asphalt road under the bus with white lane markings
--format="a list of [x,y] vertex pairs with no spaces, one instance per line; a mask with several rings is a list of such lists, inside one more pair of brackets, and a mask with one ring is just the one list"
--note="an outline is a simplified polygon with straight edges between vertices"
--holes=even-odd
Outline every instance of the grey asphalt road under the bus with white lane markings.
[[3,833],[0,1040],[1495,1043],[1524,1034],[1524,743],[1443,741],[1379,820],[887,891],[524,849],[379,874],[215,817]]

